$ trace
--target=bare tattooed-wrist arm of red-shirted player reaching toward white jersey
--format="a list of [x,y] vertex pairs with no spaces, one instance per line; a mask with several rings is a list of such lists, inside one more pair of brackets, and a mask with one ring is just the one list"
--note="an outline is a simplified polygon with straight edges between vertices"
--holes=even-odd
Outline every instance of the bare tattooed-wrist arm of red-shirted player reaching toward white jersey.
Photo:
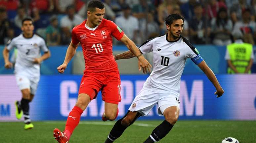
[[138,58],[138,66],[139,71],[141,71],[141,68],[143,69],[143,73],[150,72],[152,68],[151,64],[148,60],[144,58],[144,56],[141,54],[139,48],[134,44],[134,42],[129,39],[125,34],[121,38],[121,41],[126,45],[126,47]]

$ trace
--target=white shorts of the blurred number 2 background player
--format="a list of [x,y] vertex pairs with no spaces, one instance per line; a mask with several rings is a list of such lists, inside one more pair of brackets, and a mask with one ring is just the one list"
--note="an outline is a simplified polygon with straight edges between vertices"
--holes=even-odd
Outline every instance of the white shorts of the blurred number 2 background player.
[[19,74],[15,74],[15,77],[20,90],[28,88],[30,89],[30,93],[35,95],[37,90],[37,85],[39,82],[39,77],[28,78],[27,76],[19,75]]

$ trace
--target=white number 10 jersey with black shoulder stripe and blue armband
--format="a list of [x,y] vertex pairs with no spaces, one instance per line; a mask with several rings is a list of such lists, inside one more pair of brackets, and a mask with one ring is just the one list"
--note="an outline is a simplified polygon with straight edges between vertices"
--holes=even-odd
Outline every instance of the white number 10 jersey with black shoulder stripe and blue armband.
[[153,52],[153,70],[143,88],[179,97],[186,59],[191,58],[195,64],[203,59],[186,38],[180,36],[178,40],[168,41],[167,35],[150,39],[140,47],[142,53]]

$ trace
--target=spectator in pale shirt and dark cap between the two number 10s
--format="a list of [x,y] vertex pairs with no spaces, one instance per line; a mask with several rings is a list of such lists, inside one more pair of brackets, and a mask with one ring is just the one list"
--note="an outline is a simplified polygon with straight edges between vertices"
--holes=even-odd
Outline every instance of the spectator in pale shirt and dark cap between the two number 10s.
[[119,26],[126,36],[134,43],[137,43],[137,34],[139,32],[138,19],[131,15],[131,8],[128,4],[122,6],[123,15],[115,19],[115,24]]

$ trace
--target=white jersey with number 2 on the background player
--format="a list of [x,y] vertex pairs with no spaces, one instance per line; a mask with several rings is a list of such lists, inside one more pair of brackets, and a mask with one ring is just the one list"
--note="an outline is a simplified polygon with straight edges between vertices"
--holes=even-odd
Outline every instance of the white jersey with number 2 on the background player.
[[17,48],[17,57],[14,67],[15,73],[23,75],[40,76],[40,65],[33,63],[35,58],[41,56],[41,50],[48,52],[45,40],[34,34],[31,38],[25,38],[23,34],[13,38],[7,43],[7,49]]

